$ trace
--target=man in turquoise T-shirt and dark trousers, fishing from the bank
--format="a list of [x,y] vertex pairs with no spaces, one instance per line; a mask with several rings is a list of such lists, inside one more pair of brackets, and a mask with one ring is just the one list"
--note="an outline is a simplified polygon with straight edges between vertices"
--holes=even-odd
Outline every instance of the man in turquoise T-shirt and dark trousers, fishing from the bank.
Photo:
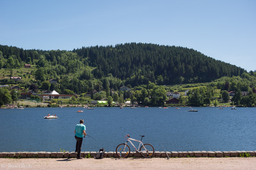
[[80,124],[76,125],[76,129],[75,129],[75,139],[76,139],[76,151],[77,155],[76,158],[77,159],[83,159],[83,157],[81,157],[81,149],[82,149],[82,143],[83,143],[83,134],[86,136],[85,130],[86,127],[84,125],[84,120],[81,119]]

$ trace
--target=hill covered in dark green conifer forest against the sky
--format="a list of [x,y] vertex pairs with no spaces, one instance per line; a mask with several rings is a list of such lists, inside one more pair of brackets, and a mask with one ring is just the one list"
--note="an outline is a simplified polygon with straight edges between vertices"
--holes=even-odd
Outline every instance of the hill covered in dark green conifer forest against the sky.
[[[240,76],[245,72],[240,67],[207,57],[194,49],[147,43],[82,47],[73,51],[23,50],[0,45],[0,51],[5,59],[12,56],[19,62],[35,63],[37,67],[44,67],[45,62],[51,66],[64,66],[66,69],[59,74],[80,69],[78,79],[92,78],[83,70],[84,66],[90,66],[95,68],[92,74],[96,79],[111,73],[132,86],[148,84],[148,81],[158,85],[209,82],[223,76]],[[44,59],[45,62],[42,61]]]

